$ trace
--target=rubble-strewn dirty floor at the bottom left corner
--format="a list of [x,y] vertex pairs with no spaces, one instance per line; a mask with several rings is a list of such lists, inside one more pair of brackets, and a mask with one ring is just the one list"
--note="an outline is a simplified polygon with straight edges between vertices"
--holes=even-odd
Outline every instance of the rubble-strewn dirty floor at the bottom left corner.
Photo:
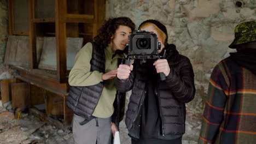
[[21,113],[20,119],[7,111],[0,100],[0,143],[4,144],[35,144],[35,143],[67,143],[72,144],[71,129],[57,129],[27,113]]

